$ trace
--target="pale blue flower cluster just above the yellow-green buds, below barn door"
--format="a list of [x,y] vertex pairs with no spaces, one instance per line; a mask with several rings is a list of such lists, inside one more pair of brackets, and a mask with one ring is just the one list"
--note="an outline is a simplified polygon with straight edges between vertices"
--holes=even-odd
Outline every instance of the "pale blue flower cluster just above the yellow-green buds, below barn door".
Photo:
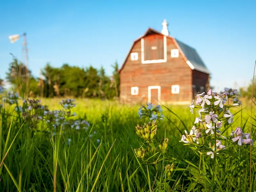
[[162,114],[162,108],[160,105],[157,105],[154,107],[154,104],[147,103],[146,106],[141,106],[139,108],[138,114],[140,118],[146,118],[148,117],[149,120],[163,120],[164,115]]

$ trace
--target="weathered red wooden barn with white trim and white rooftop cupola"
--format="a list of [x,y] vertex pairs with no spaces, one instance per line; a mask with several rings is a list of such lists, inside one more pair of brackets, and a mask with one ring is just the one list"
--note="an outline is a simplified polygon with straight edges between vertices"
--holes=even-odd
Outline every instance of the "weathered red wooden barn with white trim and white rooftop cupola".
[[[120,101],[190,104],[196,92],[209,89],[209,70],[187,44],[152,28],[136,39],[120,74]],[[157,100],[156,100],[157,99]]]

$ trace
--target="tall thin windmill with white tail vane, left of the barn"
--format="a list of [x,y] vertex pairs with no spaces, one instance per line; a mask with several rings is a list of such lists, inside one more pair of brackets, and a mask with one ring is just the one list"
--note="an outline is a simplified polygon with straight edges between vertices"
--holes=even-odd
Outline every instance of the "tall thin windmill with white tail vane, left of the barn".
[[23,51],[25,52],[25,68],[26,68],[26,76],[27,76],[27,94],[26,96],[28,97],[29,94],[29,79],[30,79],[30,74],[28,73],[28,44],[27,44],[27,34],[23,33],[22,35],[11,35],[8,38],[10,39],[11,43],[14,43],[20,39],[20,37],[24,37],[24,42],[23,42]]

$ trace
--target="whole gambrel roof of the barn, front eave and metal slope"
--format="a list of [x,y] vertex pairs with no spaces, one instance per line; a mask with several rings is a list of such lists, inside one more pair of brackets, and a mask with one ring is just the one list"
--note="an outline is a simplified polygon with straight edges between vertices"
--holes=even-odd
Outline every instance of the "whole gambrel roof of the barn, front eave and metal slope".
[[[148,30],[142,36],[140,36],[138,39],[136,39],[133,42],[133,44],[124,60],[124,63],[122,64],[121,68],[117,71],[117,73],[119,73],[124,68],[124,64],[125,64],[126,60],[128,59],[134,44],[137,41],[139,41],[141,38],[147,36],[148,34],[152,34],[152,33],[163,35],[161,32],[156,31],[155,29],[148,28]],[[174,44],[176,44],[176,46],[178,47],[182,57],[184,58],[184,60],[187,62],[188,66],[192,70],[197,70],[197,71],[201,71],[206,74],[210,74],[210,71],[206,68],[203,60],[200,58],[200,56],[198,55],[198,53],[196,52],[196,50],[194,48],[188,46],[187,44],[182,43],[181,41],[179,41],[171,36],[166,36],[166,37],[173,40]]]

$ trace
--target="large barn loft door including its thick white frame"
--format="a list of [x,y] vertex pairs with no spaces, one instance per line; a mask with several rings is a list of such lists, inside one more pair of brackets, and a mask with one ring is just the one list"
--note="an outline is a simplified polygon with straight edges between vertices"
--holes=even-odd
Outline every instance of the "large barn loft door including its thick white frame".
[[141,39],[141,62],[163,63],[167,61],[166,36],[149,35]]

